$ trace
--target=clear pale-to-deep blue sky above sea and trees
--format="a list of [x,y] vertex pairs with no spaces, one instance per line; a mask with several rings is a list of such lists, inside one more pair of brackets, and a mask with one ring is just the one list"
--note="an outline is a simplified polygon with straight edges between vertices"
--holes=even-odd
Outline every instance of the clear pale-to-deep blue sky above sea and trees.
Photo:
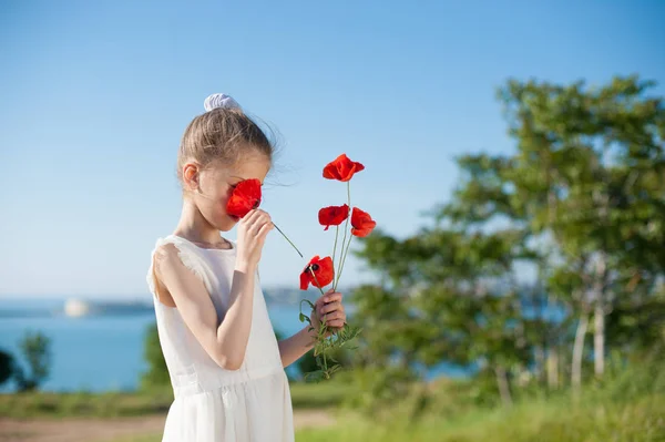
[[[638,73],[663,94],[664,17],[661,1],[4,1],[0,295],[144,296],[180,216],[180,137],[213,92],[279,131],[263,207],[327,255],[316,213],[345,202],[327,162],[362,162],[352,204],[412,234],[450,197],[456,155],[512,148],[508,78]],[[264,285],[297,287],[301,267],[272,234]],[[371,279],[347,263],[342,285]]]

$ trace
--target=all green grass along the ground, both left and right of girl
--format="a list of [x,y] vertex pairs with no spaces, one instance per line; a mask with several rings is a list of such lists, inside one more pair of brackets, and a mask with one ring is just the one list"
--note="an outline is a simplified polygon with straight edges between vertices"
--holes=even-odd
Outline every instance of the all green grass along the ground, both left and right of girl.
[[[437,394],[444,402],[457,401],[453,386],[441,383]],[[324,382],[291,386],[294,408],[329,409],[350,394],[348,384]],[[459,399],[459,398],[458,398]],[[171,397],[166,393],[29,393],[0,395],[3,417],[120,417],[164,413]],[[604,383],[590,382],[580,401],[566,392],[549,399],[524,399],[513,408],[480,409],[436,407],[417,423],[408,421],[408,400],[397,404],[391,419],[361,418],[340,409],[331,428],[303,429],[303,442],[613,442],[665,441],[665,370],[651,364],[641,371],[626,371]],[[401,409],[400,409],[401,405]],[[158,442],[160,434],[121,439],[114,442]]]

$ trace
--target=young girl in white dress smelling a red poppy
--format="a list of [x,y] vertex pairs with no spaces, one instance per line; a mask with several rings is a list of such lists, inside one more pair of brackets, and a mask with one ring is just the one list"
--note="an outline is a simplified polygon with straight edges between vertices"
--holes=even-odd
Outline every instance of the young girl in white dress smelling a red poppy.
[[[181,219],[157,240],[147,276],[175,397],[163,441],[293,441],[284,368],[313,348],[314,336],[304,328],[275,338],[257,277],[270,216],[226,213],[239,182],[263,184],[273,146],[232,97],[211,95],[205,109],[177,156]],[[236,224],[237,241],[221,237]],[[340,294],[330,290],[315,306],[315,328],[324,316],[331,331],[344,326]]]

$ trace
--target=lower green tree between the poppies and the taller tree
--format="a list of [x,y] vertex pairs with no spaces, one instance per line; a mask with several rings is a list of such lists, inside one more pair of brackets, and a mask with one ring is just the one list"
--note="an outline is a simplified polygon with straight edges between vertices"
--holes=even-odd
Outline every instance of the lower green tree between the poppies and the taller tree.
[[[354,292],[365,322],[365,361],[388,367],[408,383],[442,360],[479,364],[505,404],[510,373],[529,362],[526,330],[513,273],[525,251],[519,230],[491,234],[437,226],[405,240],[375,232],[359,255],[383,275],[383,286]],[[387,372],[389,374],[389,372]],[[400,383],[381,382],[391,392]],[[375,394],[378,393],[375,391]]]

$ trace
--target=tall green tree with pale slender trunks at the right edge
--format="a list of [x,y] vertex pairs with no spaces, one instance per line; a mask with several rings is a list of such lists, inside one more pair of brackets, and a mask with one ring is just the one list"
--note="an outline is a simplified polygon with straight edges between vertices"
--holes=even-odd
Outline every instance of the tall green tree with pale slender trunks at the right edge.
[[[646,95],[652,86],[635,76],[595,89],[509,81],[499,96],[516,152],[460,158],[470,179],[441,214],[524,228],[549,304],[577,317],[575,386],[591,315],[600,377],[605,317],[627,299],[653,297],[663,275],[665,112],[661,99]],[[543,351],[551,359],[566,331],[548,328]],[[548,377],[556,383],[556,373]]]

